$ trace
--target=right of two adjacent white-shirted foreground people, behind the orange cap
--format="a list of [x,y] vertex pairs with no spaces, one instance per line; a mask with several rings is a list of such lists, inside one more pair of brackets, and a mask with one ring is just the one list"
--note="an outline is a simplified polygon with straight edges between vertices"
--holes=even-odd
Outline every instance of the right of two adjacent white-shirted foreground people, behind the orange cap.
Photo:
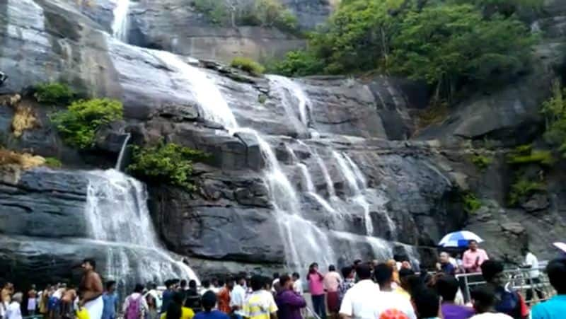
[[374,279],[379,284],[379,294],[374,296],[376,303],[376,318],[390,309],[397,309],[404,313],[409,319],[416,319],[415,311],[410,301],[400,294],[395,294],[391,284],[393,283],[393,269],[383,263],[374,267]]

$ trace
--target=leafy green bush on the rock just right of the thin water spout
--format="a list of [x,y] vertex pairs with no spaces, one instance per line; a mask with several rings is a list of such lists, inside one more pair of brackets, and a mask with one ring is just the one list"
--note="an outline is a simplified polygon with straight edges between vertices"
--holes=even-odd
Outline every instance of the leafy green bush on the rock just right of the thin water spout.
[[201,151],[174,143],[141,148],[132,146],[132,163],[127,171],[147,182],[166,182],[194,190],[190,180],[192,163],[204,158]]

